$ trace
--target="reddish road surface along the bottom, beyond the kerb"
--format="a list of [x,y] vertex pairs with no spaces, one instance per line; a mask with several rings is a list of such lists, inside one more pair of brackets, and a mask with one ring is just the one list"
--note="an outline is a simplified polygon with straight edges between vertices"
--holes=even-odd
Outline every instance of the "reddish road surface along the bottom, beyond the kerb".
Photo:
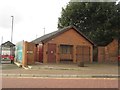
[[[120,86],[120,85],[119,85]],[[2,78],[3,88],[118,88],[117,79]]]

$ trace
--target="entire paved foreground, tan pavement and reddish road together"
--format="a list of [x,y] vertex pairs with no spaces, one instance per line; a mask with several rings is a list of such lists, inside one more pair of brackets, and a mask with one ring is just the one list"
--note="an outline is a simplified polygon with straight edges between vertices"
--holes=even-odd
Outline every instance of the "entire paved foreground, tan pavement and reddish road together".
[[[31,69],[19,68],[14,64],[3,64],[3,88],[118,88],[115,64],[40,64]],[[6,76],[8,75],[8,76]],[[38,75],[38,76],[37,76]],[[91,77],[91,76],[95,77]],[[98,77],[96,77],[98,76]]]

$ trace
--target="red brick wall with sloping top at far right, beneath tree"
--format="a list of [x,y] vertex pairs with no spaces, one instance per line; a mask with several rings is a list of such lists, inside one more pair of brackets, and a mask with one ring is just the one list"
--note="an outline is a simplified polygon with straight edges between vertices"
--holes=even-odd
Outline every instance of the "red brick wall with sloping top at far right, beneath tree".
[[107,46],[98,47],[98,62],[114,63],[118,57],[118,40],[114,39]]

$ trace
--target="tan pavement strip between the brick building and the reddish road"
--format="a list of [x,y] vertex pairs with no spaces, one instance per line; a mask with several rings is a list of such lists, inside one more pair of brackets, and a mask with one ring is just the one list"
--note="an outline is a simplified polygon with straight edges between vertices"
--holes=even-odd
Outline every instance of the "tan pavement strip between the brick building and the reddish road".
[[23,69],[15,64],[2,64],[2,77],[50,78],[120,78],[116,64],[36,64]]

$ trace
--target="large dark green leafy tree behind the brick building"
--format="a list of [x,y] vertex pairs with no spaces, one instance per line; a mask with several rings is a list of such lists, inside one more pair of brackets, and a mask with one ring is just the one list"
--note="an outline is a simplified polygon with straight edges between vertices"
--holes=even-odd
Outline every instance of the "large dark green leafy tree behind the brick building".
[[120,3],[69,2],[62,8],[58,28],[74,25],[93,42],[105,45],[120,37]]

